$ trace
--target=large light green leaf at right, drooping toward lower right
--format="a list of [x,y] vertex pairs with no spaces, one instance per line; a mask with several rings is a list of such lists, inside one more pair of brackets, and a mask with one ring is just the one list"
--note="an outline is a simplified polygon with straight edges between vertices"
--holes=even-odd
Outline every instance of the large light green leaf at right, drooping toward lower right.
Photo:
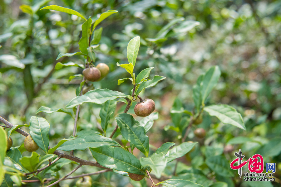
[[210,105],[205,107],[204,110],[210,116],[219,118],[224,124],[234,125],[235,127],[246,130],[241,114],[227,104]]

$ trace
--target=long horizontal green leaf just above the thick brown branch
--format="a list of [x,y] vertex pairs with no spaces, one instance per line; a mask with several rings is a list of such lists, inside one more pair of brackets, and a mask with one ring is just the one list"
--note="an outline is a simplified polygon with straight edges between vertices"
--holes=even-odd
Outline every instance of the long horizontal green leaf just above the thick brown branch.
[[112,140],[111,138],[107,138],[101,136],[99,134],[90,134],[90,135],[80,135],[75,138],[75,140],[70,140],[62,144],[57,150],[62,151],[71,151],[71,150],[85,150],[89,147],[98,147],[98,146],[118,146],[122,147],[119,143]]

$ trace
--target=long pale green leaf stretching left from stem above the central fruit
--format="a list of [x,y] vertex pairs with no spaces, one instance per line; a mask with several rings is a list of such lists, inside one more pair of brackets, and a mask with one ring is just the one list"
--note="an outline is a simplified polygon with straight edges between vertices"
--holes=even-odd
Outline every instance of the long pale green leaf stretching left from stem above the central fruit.
[[121,92],[112,91],[109,89],[94,89],[88,91],[84,95],[73,98],[65,108],[73,108],[83,103],[102,104],[108,100],[114,100],[116,98],[124,98],[124,97],[127,96]]

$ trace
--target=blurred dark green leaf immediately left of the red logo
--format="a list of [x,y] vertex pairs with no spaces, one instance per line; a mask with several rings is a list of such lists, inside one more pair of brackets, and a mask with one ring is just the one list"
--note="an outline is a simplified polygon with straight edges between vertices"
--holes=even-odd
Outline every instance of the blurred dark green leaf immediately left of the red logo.
[[229,162],[224,156],[210,156],[206,159],[206,164],[216,172],[217,175],[224,177],[234,176],[229,167]]

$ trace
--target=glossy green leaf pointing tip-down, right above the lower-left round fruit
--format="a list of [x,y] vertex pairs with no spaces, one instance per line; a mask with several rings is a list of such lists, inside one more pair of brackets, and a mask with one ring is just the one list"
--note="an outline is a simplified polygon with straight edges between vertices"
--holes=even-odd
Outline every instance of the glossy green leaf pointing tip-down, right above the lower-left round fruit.
[[50,124],[43,117],[32,116],[30,118],[30,135],[37,145],[48,153]]

